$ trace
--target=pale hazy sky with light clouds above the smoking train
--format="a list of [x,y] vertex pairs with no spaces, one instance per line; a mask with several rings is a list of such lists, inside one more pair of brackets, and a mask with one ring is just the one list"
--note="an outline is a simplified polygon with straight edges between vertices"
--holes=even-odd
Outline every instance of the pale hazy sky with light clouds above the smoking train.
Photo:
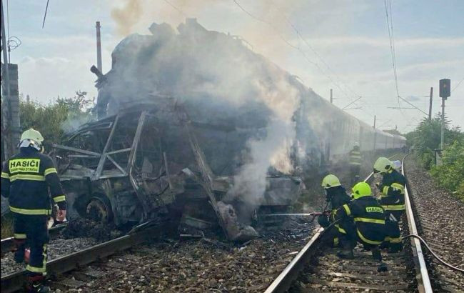
[[49,0],[43,29],[46,0],[3,2],[7,34],[21,40],[11,51],[19,91],[42,104],[76,90],[96,96],[89,70],[96,64],[95,21],[101,21],[106,73],[111,51],[127,34],[150,34],[153,22],[176,27],[194,17],[206,29],[240,36],[323,98],[333,89],[336,106],[356,100],[346,111],[358,119],[373,125],[375,115],[380,129],[397,126],[405,133],[425,114],[389,108],[411,106],[397,97],[386,4],[399,95],[428,113],[433,86],[436,114],[438,81],[451,79],[445,113],[464,128],[462,0]]

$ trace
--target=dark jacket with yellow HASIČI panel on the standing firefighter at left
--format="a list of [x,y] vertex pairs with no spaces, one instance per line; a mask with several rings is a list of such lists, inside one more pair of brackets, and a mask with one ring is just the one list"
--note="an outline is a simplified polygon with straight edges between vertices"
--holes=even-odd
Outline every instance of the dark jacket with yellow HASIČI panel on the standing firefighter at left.
[[9,197],[11,212],[51,214],[51,199],[66,209],[66,197],[54,162],[31,147],[7,160],[1,169],[1,195]]

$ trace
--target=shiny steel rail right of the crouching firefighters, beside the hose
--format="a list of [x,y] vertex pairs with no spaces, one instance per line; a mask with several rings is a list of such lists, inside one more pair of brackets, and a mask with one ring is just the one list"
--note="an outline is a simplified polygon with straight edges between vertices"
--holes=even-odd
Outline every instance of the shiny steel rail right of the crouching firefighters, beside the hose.
[[[405,176],[404,161],[408,155],[405,155],[401,160],[401,173]],[[413,206],[411,204],[411,198],[408,192],[408,184],[405,186],[405,214],[408,217],[408,227],[410,234],[418,235],[418,229],[415,225]],[[413,250],[413,258],[415,264],[415,278],[418,280],[418,290],[420,293],[431,293],[433,292],[432,284],[430,284],[430,278],[428,277],[427,264],[425,264],[424,254],[420,245],[420,240],[412,237],[410,239],[411,249]]]

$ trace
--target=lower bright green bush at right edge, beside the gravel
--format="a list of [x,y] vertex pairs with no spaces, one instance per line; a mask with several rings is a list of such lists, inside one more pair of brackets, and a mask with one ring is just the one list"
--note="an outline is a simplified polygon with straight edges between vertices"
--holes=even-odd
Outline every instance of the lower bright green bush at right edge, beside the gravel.
[[464,199],[464,139],[456,140],[443,151],[443,164],[433,166],[430,174],[440,184]]

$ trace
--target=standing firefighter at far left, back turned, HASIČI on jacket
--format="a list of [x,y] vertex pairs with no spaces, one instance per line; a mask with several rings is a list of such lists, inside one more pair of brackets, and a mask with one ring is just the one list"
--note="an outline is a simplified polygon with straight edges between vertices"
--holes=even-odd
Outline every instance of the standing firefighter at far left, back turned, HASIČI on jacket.
[[24,262],[26,239],[30,247],[29,263],[26,266],[29,292],[50,290],[44,285],[44,279],[51,199],[59,207],[56,219],[64,221],[66,218],[66,197],[54,162],[42,154],[43,141],[39,131],[24,131],[18,144],[19,154],[8,159],[1,170],[1,195],[9,198],[14,217],[16,262]]

